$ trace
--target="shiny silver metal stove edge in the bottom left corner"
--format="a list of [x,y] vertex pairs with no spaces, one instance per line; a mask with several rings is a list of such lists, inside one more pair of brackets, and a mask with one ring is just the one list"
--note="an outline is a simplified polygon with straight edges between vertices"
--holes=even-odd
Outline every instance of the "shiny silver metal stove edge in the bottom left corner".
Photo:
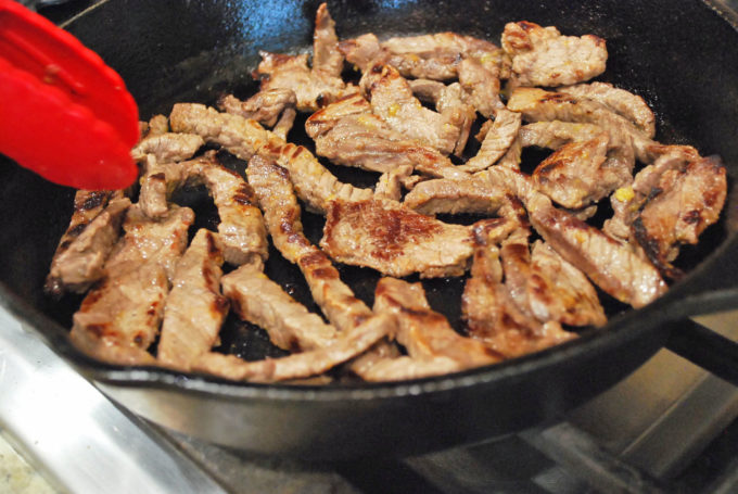
[[225,492],[2,308],[0,396],[0,428],[63,492]]

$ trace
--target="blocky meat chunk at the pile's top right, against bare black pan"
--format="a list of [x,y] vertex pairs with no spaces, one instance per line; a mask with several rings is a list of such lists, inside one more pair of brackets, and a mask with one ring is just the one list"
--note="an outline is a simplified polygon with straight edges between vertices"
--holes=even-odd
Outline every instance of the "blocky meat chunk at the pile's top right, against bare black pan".
[[583,83],[605,72],[605,40],[593,35],[561,36],[556,27],[521,21],[508,23],[502,49],[512,58],[514,80],[521,86]]

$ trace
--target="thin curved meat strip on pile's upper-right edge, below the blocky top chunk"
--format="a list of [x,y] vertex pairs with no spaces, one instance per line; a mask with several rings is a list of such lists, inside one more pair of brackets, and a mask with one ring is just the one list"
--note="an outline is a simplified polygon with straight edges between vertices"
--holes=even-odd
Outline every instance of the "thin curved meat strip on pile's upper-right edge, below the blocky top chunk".
[[636,127],[653,139],[656,136],[656,116],[646,101],[637,94],[620,89],[609,83],[577,84],[556,89],[577,98],[588,98],[608,106],[619,115],[633,122]]

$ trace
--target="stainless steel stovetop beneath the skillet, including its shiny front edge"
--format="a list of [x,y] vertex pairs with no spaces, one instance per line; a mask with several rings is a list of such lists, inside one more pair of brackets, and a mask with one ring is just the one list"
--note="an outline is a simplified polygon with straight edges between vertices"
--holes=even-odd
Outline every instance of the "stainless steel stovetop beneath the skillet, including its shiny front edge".
[[[699,321],[738,339],[738,311]],[[73,493],[738,492],[738,388],[666,350],[556,423],[341,465],[253,457],[133,417],[4,312],[0,396],[3,434]]]

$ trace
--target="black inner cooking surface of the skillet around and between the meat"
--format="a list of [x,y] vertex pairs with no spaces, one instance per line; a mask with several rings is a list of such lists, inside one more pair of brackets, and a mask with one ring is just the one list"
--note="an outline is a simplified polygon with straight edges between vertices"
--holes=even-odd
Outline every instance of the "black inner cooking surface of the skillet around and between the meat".
[[[213,103],[222,92],[246,97],[256,90],[251,71],[258,50],[295,52],[309,48],[318,1],[158,1],[102,2],[66,26],[93,48],[126,80],[141,117],[168,113],[177,101]],[[608,71],[600,80],[641,94],[658,115],[658,140],[691,143],[703,155],[720,154],[733,181],[738,166],[738,36],[735,28],[704,3],[598,0],[572,4],[565,0],[522,1],[338,1],[329,2],[341,38],[373,31],[380,37],[454,30],[498,42],[506,22],[527,20],[556,25],[563,34],[596,34],[608,42]],[[301,142],[300,124],[292,139]],[[302,137],[301,137],[302,135]],[[302,142],[301,142],[302,143]],[[222,154],[222,153],[221,153]],[[224,155],[237,168],[243,163]],[[343,180],[368,185],[376,176],[331,167]],[[62,338],[78,297],[51,301],[41,291],[51,255],[71,213],[73,191],[47,183],[3,164],[0,198],[7,206],[0,238],[0,280],[16,311],[33,314],[36,326],[63,353],[81,359]],[[190,190],[177,201],[192,205],[202,226],[217,221],[206,194]],[[735,230],[736,201],[727,218],[703,236],[700,246],[686,249],[679,263],[689,269]],[[468,218],[463,218],[468,219]],[[306,215],[306,231],[320,237],[321,218]],[[735,244],[735,242],[731,242]],[[733,252],[736,251],[730,249]],[[729,254],[729,252],[727,253]],[[725,253],[724,253],[724,257]],[[368,303],[379,276],[341,267],[342,278]],[[301,302],[313,306],[300,271],[273,250],[270,277]],[[687,280],[688,282],[689,280]],[[434,308],[461,329],[459,297],[462,279],[423,282]],[[22,302],[18,302],[22,301]],[[16,303],[17,302],[17,303]],[[608,301],[611,314],[622,311]],[[48,315],[52,321],[39,319]],[[218,349],[246,358],[280,355],[265,333],[229,320]],[[97,370],[106,366],[98,366]]]

